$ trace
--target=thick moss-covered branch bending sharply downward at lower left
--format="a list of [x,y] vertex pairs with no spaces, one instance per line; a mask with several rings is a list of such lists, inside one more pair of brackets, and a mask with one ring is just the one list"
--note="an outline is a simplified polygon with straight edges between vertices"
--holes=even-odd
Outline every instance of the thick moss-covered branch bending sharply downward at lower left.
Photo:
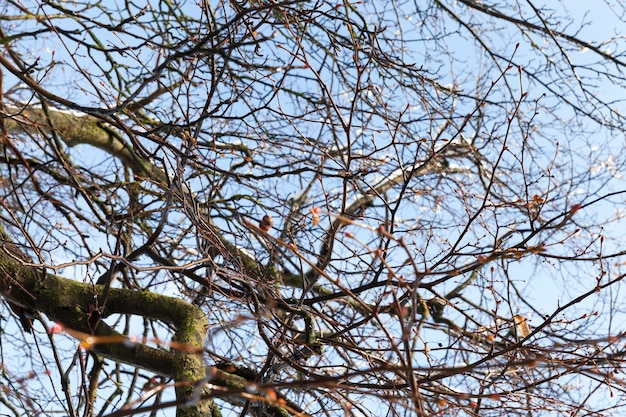
[[[87,342],[86,347],[102,356],[174,378],[179,382],[177,398],[182,404],[210,395],[202,387],[196,387],[197,382],[206,378],[202,352],[208,323],[200,309],[161,294],[131,289],[105,290],[104,286],[48,274],[41,268],[27,265],[24,254],[12,243],[3,241],[1,248],[0,294],[9,303],[26,311],[44,313],[71,329],[70,334],[82,338]],[[116,313],[136,314],[172,325],[176,329],[173,349],[129,343],[101,321]],[[196,392],[196,389],[202,391]],[[213,401],[199,401],[179,407],[177,416],[205,417],[216,413],[219,411]]]

